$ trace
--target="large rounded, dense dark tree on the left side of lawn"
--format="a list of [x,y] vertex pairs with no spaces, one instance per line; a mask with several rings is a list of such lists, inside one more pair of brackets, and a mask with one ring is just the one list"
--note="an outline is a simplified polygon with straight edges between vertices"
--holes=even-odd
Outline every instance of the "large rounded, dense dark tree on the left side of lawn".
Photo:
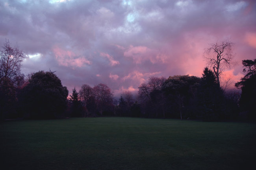
[[59,118],[66,109],[68,94],[56,74],[39,71],[31,76],[19,99],[26,118]]

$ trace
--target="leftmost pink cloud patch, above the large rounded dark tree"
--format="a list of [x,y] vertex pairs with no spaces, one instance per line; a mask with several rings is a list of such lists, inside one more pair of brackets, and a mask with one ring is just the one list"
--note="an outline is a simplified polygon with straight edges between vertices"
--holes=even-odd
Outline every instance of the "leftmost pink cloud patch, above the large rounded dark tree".
[[83,67],[85,64],[91,65],[91,61],[85,59],[84,57],[76,57],[76,54],[74,54],[74,52],[69,50],[63,50],[58,46],[55,46],[53,48],[53,52],[59,65],[63,65],[66,67]]

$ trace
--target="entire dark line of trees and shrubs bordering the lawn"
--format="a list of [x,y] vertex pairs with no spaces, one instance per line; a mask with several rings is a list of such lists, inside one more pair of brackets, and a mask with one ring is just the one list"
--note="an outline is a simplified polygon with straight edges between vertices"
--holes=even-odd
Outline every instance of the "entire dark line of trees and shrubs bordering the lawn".
[[84,84],[69,95],[55,72],[38,71],[24,76],[20,72],[24,53],[9,41],[0,50],[0,116],[54,119],[67,117],[133,116],[145,118],[256,120],[256,59],[243,60],[247,74],[236,83],[241,89],[224,91],[220,85],[226,67],[235,65],[233,43],[210,44],[204,53],[208,67],[202,77],[176,75],[150,77],[141,83],[137,98],[126,91],[114,98],[103,83]]

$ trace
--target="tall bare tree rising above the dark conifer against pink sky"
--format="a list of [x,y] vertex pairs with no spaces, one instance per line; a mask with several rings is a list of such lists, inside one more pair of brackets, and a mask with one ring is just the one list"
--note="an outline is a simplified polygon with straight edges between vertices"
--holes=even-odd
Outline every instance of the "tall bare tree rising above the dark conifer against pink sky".
[[236,65],[234,61],[235,55],[233,54],[232,47],[234,43],[228,39],[210,44],[204,52],[203,58],[208,66],[213,69],[216,76],[217,83],[220,86],[220,76],[226,68],[231,68]]

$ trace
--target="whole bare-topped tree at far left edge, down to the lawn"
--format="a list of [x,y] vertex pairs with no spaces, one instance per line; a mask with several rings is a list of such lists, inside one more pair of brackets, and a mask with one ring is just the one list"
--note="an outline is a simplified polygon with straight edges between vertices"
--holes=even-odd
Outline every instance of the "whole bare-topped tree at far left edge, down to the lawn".
[[[19,46],[12,47],[9,41],[0,50],[0,120],[15,118],[17,106],[16,88],[24,83],[20,73],[24,54]],[[17,115],[16,115],[17,116]]]

